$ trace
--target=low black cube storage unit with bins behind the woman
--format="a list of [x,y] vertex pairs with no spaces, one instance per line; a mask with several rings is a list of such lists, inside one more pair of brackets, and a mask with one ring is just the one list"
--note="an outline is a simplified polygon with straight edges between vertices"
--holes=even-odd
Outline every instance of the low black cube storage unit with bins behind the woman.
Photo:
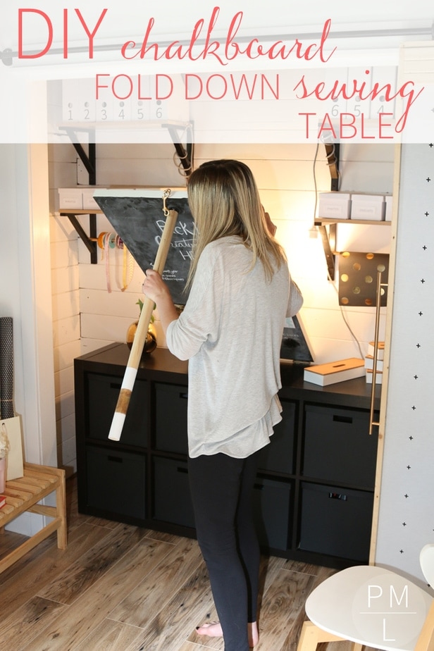
[[[78,509],[194,537],[187,362],[161,348],[142,357],[115,442],[107,437],[128,356],[111,344],[75,359]],[[281,371],[283,420],[259,454],[254,486],[262,550],[337,568],[364,563],[378,442],[368,435],[371,386],[357,378],[318,387],[301,366]]]

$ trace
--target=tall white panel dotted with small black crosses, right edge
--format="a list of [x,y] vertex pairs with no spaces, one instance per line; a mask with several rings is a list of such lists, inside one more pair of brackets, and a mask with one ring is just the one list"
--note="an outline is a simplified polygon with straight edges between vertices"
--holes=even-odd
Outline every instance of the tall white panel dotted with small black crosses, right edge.
[[422,578],[434,542],[434,146],[402,147],[376,563]]

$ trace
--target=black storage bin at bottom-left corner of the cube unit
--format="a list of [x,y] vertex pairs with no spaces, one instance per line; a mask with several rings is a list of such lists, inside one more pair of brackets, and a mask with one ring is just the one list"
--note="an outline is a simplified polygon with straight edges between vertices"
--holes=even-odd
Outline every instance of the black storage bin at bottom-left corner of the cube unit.
[[87,504],[121,516],[145,519],[146,457],[87,447]]

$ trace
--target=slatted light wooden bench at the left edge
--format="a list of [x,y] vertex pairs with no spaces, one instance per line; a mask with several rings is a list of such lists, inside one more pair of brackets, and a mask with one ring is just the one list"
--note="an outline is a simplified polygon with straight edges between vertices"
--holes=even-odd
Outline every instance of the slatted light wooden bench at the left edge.
[[[56,506],[49,507],[38,504],[51,492],[56,491]],[[27,538],[24,543],[16,547],[0,559],[0,574],[33,547],[39,545],[47,536],[57,531],[57,547],[66,550],[66,490],[65,471],[51,466],[24,464],[24,476],[12,481],[6,481],[6,504],[0,509],[0,533],[11,520],[24,512],[37,513],[53,518],[46,526],[35,535]]]

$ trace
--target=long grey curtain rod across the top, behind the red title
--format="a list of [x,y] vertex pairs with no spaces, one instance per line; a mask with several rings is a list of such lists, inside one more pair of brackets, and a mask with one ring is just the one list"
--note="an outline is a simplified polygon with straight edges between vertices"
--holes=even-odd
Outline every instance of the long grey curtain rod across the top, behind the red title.
[[[347,30],[347,31],[342,31],[342,32],[330,32],[330,40],[333,39],[345,39],[345,38],[383,38],[383,37],[400,37],[400,36],[406,36],[406,37],[421,37],[421,36],[429,36],[430,39],[434,40],[434,23],[430,27],[411,27],[411,28],[397,28],[395,30]],[[245,36],[245,37],[240,37],[237,39],[238,42],[249,42],[252,40],[252,38],[257,38],[257,37],[252,37],[252,36]],[[295,39],[318,39],[321,38],[321,33],[320,32],[302,32],[298,34],[284,34],[284,35],[279,35],[279,34],[273,34],[273,35],[261,35],[260,40],[261,42],[268,42],[271,40],[275,41],[292,41]],[[218,42],[218,39],[216,39]],[[173,41],[165,41],[159,43],[159,46],[161,47],[167,47],[169,46]],[[189,40],[183,40],[179,41],[180,45],[188,45],[190,43]],[[197,45],[204,44],[204,41],[197,41]],[[123,44],[117,44],[117,45],[95,45],[94,46],[94,51],[97,52],[111,52],[111,51],[120,51],[120,48],[123,46]],[[82,54],[83,52],[87,52],[89,49],[87,46],[76,46],[76,47],[70,47],[68,49],[68,52],[70,54]],[[30,50],[25,52],[27,56],[32,55],[32,54],[38,54],[39,51],[37,50]],[[63,48],[54,48],[50,49],[46,54],[63,54]],[[46,56],[46,55],[45,55]],[[12,66],[13,65],[13,59],[18,57],[18,52],[13,51],[11,49],[4,49],[4,51],[0,51],[0,58],[1,61],[4,63],[5,66]]]

